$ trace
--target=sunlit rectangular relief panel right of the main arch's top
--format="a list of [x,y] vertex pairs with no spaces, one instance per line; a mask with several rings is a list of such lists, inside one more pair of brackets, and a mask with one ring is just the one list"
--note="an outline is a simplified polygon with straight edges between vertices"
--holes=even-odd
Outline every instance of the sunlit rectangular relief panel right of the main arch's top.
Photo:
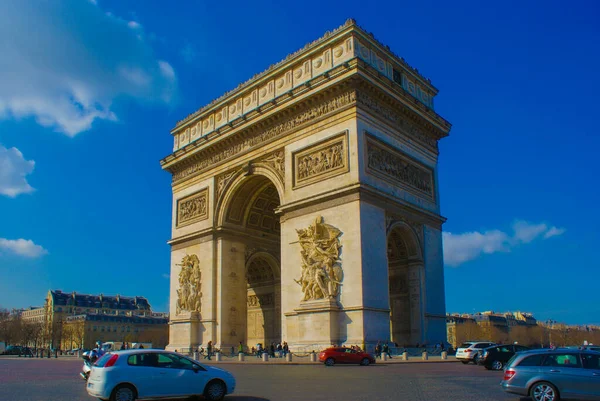
[[348,172],[348,132],[293,154],[294,188]]

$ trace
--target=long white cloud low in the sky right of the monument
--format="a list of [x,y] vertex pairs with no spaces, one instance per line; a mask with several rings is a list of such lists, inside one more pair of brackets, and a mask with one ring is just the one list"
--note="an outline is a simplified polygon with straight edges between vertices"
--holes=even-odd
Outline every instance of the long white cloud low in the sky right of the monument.
[[564,228],[548,227],[545,223],[532,224],[523,220],[516,221],[512,228],[512,235],[500,230],[462,234],[444,232],[442,236],[445,264],[456,267],[482,254],[509,252],[518,245],[528,244],[540,237],[555,237],[566,231]]

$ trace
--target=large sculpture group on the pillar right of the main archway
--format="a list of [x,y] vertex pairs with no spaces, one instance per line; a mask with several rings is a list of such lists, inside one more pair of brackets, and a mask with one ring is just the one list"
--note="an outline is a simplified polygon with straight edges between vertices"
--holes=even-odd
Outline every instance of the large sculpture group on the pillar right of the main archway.
[[321,216],[308,228],[296,232],[302,247],[302,276],[294,281],[302,287],[302,301],[335,299],[343,278],[339,263],[342,232],[323,223]]

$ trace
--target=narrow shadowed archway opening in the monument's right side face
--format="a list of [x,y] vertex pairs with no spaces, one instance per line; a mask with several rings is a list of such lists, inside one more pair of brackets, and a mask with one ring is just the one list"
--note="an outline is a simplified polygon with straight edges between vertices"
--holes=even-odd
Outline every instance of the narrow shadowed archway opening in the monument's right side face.
[[399,346],[421,341],[422,259],[414,233],[405,226],[388,235],[390,339]]

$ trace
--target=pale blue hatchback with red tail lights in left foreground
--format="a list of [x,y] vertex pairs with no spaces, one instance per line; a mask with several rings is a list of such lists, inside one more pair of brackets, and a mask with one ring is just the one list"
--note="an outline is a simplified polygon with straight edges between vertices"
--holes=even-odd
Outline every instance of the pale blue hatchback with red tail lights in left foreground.
[[198,395],[216,401],[234,390],[235,378],[226,370],[157,349],[105,354],[94,364],[87,381],[89,395],[110,401]]

